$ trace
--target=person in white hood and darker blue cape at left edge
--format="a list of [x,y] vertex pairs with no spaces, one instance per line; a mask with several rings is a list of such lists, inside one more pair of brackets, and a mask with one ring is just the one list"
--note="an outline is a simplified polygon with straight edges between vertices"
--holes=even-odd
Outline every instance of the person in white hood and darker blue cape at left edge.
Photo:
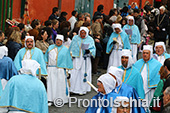
[[8,48],[0,46],[0,96],[5,88],[7,81],[14,75],[17,75],[17,69],[11,58],[7,57]]

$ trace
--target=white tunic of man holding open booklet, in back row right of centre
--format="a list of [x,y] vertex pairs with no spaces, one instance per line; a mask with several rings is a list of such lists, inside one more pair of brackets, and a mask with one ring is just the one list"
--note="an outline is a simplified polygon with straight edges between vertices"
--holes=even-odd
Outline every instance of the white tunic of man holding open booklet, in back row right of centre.
[[120,36],[118,37],[117,41],[119,42],[119,44],[113,45],[114,47],[109,57],[109,64],[107,69],[109,69],[110,66],[118,67],[121,65],[123,44]]

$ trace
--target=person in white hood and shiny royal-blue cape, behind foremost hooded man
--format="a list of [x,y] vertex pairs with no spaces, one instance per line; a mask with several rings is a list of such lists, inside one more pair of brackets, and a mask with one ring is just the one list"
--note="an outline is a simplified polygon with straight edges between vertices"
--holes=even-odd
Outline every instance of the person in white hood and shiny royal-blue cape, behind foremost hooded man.
[[[116,79],[116,88],[112,92],[116,92],[120,96],[125,96],[128,98],[131,97],[132,99],[135,99],[135,100],[140,99],[136,90],[133,87],[131,87],[125,83],[122,83],[123,73],[124,73],[123,70],[119,69],[117,67],[111,66],[108,69],[107,74]],[[145,113],[145,110],[143,107],[135,107],[134,105],[132,105],[132,106],[133,106],[132,113]]]

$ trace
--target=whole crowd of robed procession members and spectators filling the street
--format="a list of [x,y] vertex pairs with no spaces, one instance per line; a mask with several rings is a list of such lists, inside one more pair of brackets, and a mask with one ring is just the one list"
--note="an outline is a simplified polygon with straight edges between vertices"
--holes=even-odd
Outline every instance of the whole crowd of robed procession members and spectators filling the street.
[[[87,82],[102,68],[93,99],[140,98],[151,107],[89,106],[86,113],[168,113],[170,11],[148,1],[144,9],[132,3],[103,11],[74,10],[68,19],[54,7],[43,24],[34,19],[31,28],[20,23],[0,31],[0,112],[47,113],[57,98],[68,103],[70,94],[90,92]],[[152,107],[157,97],[161,107]]]

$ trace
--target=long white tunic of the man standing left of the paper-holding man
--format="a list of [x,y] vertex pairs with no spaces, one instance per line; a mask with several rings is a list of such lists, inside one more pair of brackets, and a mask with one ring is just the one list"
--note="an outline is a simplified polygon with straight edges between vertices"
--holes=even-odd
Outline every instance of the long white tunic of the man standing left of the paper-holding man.
[[64,103],[68,102],[69,94],[66,95],[67,77],[64,69],[56,67],[57,61],[57,48],[49,52],[48,67],[47,67],[47,96],[48,101],[54,101],[57,98],[63,100]]

